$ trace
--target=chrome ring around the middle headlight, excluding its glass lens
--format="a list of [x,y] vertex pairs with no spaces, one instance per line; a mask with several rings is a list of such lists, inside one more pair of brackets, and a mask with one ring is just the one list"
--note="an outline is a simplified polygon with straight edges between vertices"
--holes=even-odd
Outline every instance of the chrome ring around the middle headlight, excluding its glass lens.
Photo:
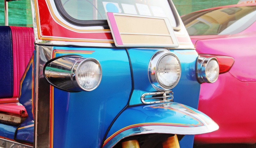
[[[170,90],[170,89],[174,88],[178,84],[178,82],[180,80],[180,76],[179,76],[179,79],[177,80],[176,84],[174,86],[172,86],[172,87],[169,87],[169,88],[164,87],[163,85],[161,85],[159,83],[159,80],[157,78],[157,75],[156,75],[155,71],[157,69],[159,60],[162,57],[166,56],[166,55],[172,55],[172,56],[176,57],[176,59],[179,61],[178,57],[175,54],[173,54],[173,53],[171,53],[169,51],[166,51],[166,50],[160,50],[160,51],[156,52],[152,56],[152,58],[151,58],[151,60],[149,62],[149,65],[148,65],[148,78],[149,78],[149,81],[150,81],[151,85],[153,86],[153,88],[155,88],[158,91]],[[180,61],[179,61],[179,64],[180,64]],[[180,66],[180,69],[181,69],[181,66]],[[181,75],[181,71],[180,71],[180,75]]]

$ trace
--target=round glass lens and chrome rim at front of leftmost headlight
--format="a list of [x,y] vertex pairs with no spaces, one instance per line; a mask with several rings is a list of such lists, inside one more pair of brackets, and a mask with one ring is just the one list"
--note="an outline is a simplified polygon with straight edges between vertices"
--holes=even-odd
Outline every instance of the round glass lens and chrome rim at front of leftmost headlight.
[[93,58],[82,58],[78,60],[73,68],[73,80],[85,91],[97,88],[101,81],[101,66],[98,60]]

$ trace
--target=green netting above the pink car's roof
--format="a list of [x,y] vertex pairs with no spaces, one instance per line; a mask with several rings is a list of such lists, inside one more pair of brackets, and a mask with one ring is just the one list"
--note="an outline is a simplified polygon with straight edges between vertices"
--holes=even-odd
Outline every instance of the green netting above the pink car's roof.
[[172,0],[180,16],[212,7],[237,4],[239,0]]

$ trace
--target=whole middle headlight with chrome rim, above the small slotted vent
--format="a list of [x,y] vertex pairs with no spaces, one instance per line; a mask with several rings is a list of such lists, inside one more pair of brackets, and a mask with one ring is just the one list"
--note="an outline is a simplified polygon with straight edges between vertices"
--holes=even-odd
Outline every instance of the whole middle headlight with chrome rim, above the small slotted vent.
[[158,91],[170,90],[180,80],[181,66],[178,57],[170,51],[156,52],[148,65],[148,78]]

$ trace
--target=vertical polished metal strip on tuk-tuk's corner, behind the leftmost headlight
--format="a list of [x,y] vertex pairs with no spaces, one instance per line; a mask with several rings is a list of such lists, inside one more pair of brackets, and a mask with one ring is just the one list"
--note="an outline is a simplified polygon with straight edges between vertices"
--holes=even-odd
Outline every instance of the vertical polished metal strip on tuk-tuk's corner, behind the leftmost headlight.
[[36,105],[34,145],[48,148],[50,145],[50,84],[43,74],[44,64],[51,59],[52,47],[36,45]]

